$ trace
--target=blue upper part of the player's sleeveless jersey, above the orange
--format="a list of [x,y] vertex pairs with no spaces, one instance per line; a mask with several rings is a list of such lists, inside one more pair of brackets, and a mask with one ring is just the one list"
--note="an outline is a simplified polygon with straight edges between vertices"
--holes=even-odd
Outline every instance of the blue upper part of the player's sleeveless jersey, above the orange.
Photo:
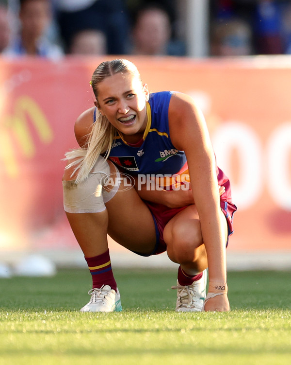
[[168,110],[172,93],[150,94],[146,103],[146,130],[138,147],[128,144],[120,136],[114,140],[109,158],[125,172],[172,175],[185,166],[185,153],[178,151],[170,139]]

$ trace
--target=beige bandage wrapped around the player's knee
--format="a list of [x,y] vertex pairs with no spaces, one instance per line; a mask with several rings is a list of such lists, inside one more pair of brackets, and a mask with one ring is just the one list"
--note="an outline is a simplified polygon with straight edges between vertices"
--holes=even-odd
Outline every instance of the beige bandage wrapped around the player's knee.
[[[118,170],[116,168],[115,170],[115,174],[118,175]],[[68,213],[98,213],[105,210],[105,203],[113,198],[119,186],[114,186],[112,190],[103,188],[109,175],[109,164],[100,156],[86,180],[78,184],[75,180],[63,181],[65,211]]]

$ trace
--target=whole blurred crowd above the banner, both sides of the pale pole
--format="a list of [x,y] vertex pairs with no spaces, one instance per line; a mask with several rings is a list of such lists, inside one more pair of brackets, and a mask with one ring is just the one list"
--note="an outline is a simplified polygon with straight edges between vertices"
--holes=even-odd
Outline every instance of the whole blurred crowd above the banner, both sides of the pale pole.
[[[187,56],[187,1],[0,0],[0,53]],[[209,0],[209,19],[209,56],[291,54],[291,0]]]

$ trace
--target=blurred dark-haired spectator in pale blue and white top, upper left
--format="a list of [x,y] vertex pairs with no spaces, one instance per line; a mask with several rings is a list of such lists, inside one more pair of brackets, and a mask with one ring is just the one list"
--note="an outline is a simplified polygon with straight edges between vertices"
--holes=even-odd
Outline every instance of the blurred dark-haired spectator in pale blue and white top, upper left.
[[62,57],[62,48],[51,43],[45,36],[51,19],[52,9],[49,0],[20,0],[19,34],[12,40],[4,54],[10,57],[21,55],[50,59]]

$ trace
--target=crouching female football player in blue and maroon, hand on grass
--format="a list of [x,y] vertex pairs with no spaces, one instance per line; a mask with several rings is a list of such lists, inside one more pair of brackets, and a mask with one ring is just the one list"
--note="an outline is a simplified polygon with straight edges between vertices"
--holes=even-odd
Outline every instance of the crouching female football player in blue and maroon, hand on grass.
[[81,311],[121,311],[107,234],[139,255],[166,251],[179,264],[176,311],[228,311],[226,245],[236,207],[201,111],[183,93],[150,94],[125,59],[102,62],[91,85],[95,106],[75,124],[80,149],[66,154],[63,177],[66,215],[93,278]]

